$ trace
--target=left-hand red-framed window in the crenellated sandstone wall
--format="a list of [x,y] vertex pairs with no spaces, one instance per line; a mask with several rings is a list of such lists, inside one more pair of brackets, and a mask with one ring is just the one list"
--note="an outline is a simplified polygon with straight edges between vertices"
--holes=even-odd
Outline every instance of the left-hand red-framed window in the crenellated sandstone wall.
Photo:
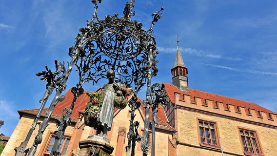
[[[202,126],[200,126],[200,123],[202,123]],[[205,127],[205,124],[208,124],[208,127]],[[213,128],[211,127],[211,125],[213,125]],[[203,129],[203,133],[201,133],[201,128]],[[197,118],[197,129],[198,142],[200,146],[221,149],[219,141],[218,123],[216,121]],[[206,130],[208,130],[209,137],[206,137]],[[212,137],[212,132],[214,133],[214,137]],[[210,142],[207,140],[210,140]]]

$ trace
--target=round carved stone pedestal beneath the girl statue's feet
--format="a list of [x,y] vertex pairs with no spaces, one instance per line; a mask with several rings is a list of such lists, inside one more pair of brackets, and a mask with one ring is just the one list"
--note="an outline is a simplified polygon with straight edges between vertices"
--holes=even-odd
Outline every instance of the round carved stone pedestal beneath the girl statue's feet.
[[90,136],[79,141],[79,156],[110,156],[114,147],[105,137]]

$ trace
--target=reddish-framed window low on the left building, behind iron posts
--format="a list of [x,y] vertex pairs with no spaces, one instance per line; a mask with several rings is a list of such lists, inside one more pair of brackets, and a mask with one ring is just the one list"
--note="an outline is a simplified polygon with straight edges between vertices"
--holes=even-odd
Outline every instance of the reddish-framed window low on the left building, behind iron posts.
[[[40,154],[40,156],[49,156],[50,155],[50,152],[47,152],[47,150],[48,150],[48,147],[49,147],[49,145],[54,145],[54,143],[51,143],[51,140],[52,140],[52,138],[54,137],[56,137],[57,135],[54,135],[53,134],[54,133],[54,131],[49,131],[48,132],[48,134],[47,134],[47,136],[45,137],[46,139],[45,139],[45,141],[43,142],[43,148],[41,149],[41,154]],[[70,135],[68,135],[68,134],[64,134],[63,135],[63,138],[65,138],[64,140],[63,140],[63,143],[62,143],[62,145],[60,145],[60,148],[61,148],[61,156],[64,156],[64,155],[62,155],[63,154],[63,152],[64,152],[64,149],[66,148],[66,150],[68,149],[68,145],[69,145],[69,143],[70,143],[70,140],[71,140],[71,136]],[[68,139],[69,139],[69,142],[68,142],[68,144],[66,145],[66,142],[68,141]],[[65,151],[65,154],[66,154],[66,151]]]

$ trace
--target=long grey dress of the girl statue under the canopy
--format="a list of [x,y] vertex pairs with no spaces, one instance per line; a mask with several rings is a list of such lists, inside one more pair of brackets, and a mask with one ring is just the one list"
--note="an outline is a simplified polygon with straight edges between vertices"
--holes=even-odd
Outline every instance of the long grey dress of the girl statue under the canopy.
[[108,131],[111,130],[114,116],[114,96],[113,84],[105,84],[102,91],[103,103],[100,111],[99,124],[106,125]]

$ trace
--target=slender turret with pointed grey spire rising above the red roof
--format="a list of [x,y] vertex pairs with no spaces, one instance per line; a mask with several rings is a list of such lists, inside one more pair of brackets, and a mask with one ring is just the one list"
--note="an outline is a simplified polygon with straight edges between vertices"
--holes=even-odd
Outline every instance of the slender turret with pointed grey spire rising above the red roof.
[[189,91],[188,87],[188,68],[185,66],[179,50],[179,40],[177,36],[177,53],[174,61],[174,66],[171,68],[172,84],[179,90]]

